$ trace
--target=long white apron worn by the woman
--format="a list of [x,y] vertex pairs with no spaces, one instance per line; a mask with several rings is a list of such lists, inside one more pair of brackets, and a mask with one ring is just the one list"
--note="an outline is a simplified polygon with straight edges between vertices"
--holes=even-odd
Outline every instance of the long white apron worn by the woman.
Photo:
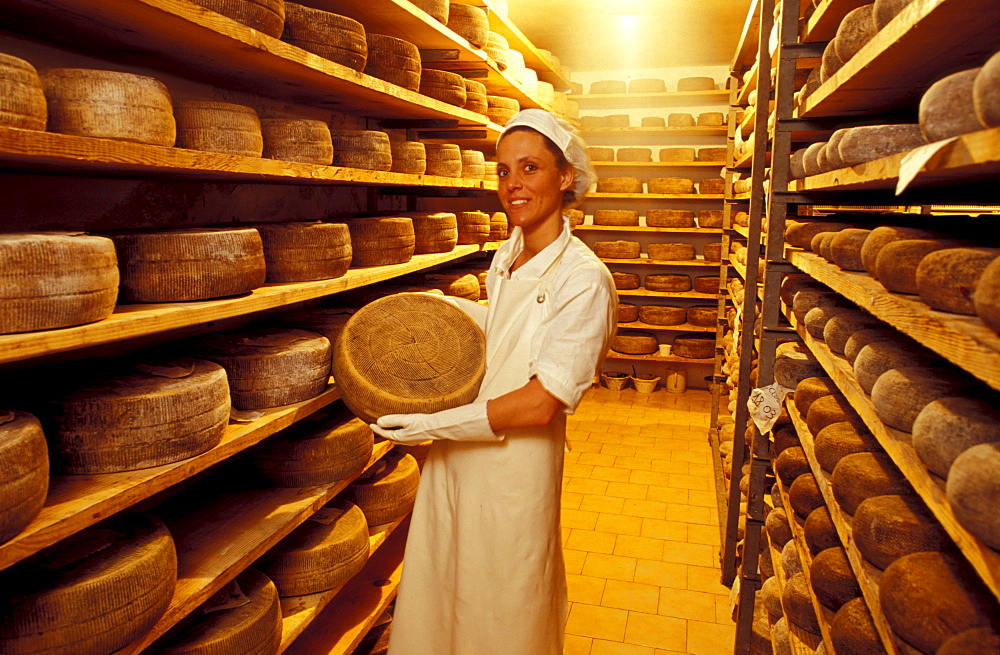
[[[477,400],[528,382],[532,336],[562,254],[541,278],[498,276]],[[434,441],[407,537],[389,655],[562,655],[559,528],[566,415],[502,441]]]

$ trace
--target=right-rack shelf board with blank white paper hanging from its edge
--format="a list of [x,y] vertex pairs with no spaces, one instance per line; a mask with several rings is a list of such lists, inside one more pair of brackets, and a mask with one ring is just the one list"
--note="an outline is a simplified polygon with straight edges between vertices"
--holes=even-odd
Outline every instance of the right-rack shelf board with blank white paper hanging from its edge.
[[[922,146],[929,147],[929,146]],[[874,161],[840,168],[828,173],[791,180],[789,191],[828,191],[848,189],[895,189],[900,167],[910,153],[900,153]],[[926,161],[907,189],[966,184],[995,180],[1000,175],[1000,128],[963,134],[942,144]],[[949,198],[955,191],[944,189]]]

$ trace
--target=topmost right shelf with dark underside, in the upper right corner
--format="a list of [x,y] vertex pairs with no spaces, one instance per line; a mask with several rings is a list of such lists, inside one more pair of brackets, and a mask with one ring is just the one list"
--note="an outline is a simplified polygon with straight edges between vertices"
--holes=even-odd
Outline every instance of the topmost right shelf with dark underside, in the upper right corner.
[[[933,80],[981,66],[1000,47],[995,0],[924,0],[905,7],[799,107],[802,117],[916,110]],[[934,44],[928,47],[927,44]],[[878,93],[872,93],[877,89]]]

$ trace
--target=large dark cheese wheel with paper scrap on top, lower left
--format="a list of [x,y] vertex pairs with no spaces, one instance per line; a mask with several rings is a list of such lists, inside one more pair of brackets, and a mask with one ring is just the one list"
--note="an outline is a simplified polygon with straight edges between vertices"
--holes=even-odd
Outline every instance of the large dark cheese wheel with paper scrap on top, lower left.
[[177,357],[91,378],[48,405],[46,436],[65,473],[132,471],[215,446],[229,423],[221,366]]

